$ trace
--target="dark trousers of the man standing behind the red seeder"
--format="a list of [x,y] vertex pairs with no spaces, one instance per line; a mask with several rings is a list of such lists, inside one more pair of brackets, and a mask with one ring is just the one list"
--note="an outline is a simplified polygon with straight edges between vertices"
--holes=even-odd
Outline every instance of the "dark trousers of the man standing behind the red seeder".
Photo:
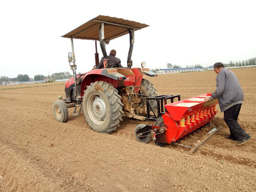
[[224,111],[224,121],[230,128],[230,137],[239,141],[249,137],[249,135],[241,128],[237,122],[241,105],[242,104],[234,105]]

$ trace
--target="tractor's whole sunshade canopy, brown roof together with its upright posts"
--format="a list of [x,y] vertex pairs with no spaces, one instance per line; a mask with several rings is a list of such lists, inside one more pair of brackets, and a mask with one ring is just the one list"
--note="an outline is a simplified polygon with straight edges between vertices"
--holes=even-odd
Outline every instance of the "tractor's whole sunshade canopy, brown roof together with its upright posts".
[[[106,26],[108,26],[108,28],[106,28]],[[73,39],[86,39],[86,40],[99,41],[103,57],[104,59],[106,59],[106,61],[108,61],[106,44],[108,44],[109,41],[111,41],[112,39],[118,38],[122,35],[129,34],[130,47],[129,47],[128,56],[127,56],[127,67],[131,68],[132,66],[131,55],[133,52],[133,46],[135,42],[135,31],[143,29],[147,26],[148,25],[146,24],[138,23],[131,20],[124,20],[122,18],[99,15],[98,17],[95,17],[92,20],[89,20],[87,23],[84,23],[83,25],[77,27],[76,29],[67,33],[66,35],[63,35],[62,37],[71,39],[73,62],[75,61]],[[97,34],[99,35],[98,37],[97,37]],[[96,43],[95,43],[95,46],[96,46]],[[97,46],[95,48],[97,53]],[[98,54],[95,55],[95,63],[96,65],[99,65]]]

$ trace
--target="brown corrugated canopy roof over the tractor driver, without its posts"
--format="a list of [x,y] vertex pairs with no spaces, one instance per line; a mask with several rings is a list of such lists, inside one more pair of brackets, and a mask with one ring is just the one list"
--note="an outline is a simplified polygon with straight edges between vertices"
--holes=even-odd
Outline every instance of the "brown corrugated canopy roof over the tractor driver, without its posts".
[[99,27],[102,23],[104,23],[105,42],[107,44],[112,39],[128,34],[127,29],[134,29],[136,31],[148,26],[122,18],[99,15],[61,37],[99,41]]

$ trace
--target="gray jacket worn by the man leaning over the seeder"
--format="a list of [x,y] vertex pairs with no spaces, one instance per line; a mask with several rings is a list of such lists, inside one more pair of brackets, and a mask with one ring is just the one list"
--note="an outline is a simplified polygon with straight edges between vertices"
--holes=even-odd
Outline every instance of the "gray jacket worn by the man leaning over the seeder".
[[244,92],[235,73],[225,68],[221,69],[217,74],[216,83],[216,90],[209,99],[218,98],[221,112],[243,103]]

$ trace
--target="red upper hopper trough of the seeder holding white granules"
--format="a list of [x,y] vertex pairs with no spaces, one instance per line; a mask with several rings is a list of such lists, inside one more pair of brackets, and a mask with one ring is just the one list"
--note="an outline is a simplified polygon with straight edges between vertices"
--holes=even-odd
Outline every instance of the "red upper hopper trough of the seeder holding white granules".
[[172,119],[174,119],[175,121],[179,121],[180,119],[183,119],[187,116],[191,116],[192,114],[202,111],[203,108],[217,105],[218,99],[213,99],[207,102],[203,101],[205,97],[209,97],[211,95],[212,93],[205,93],[203,95],[169,103],[165,105],[165,108],[167,109],[168,113],[172,116]]

